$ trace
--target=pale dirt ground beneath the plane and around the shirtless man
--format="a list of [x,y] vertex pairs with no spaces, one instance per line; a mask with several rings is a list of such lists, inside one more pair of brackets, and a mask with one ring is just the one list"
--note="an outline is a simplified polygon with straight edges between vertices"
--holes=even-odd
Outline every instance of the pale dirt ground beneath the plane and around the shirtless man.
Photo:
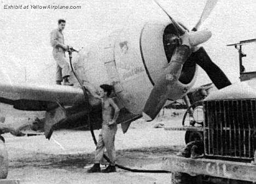
[[[152,122],[139,119],[126,134],[119,126],[115,139],[117,163],[131,168],[161,169],[162,157],[176,154],[184,145],[184,132],[154,125],[180,126],[183,112],[166,110]],[[7,120],[16,121],[18,117],[14,116]],[[99,132],[95,131],[96,136]],[[3,136],[10,160],[8,179],[19,179],[21,183],[171,183],[171,174],[131,173],[121,169],[110,174],[86,173],[95,150],[89,131],[59,130],[50,140],[44,135]]]

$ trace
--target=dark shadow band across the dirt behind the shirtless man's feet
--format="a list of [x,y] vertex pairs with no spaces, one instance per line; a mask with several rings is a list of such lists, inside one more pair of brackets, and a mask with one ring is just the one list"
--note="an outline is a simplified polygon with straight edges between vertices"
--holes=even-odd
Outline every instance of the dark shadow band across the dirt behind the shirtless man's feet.
[[[142,167],[149,162],[159,162],[161,156],[175,155],[181,148],[182,145],[174,145],[171,147],[142,147],[140,149],[118,150],[117,162],[119,164],[125,164],[128,167]],[[90,165],[93,162],[93,153],[73,155],[48,155],[35,153],[33,157],[10,161],[9,168],[39,167],[72,170],[74,168],[84,168],[86,165]]]

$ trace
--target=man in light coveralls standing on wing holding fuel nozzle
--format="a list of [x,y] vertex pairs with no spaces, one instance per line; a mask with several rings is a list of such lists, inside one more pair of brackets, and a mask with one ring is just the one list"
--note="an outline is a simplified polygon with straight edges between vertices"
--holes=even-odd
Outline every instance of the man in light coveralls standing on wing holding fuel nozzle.
[[[65,57],[65,51],[68,49],[68,45],[64,44],[64,37],[62,34],[63,29],[66,26],[66,21],[63,19],[58,20],[58,28],[54,29],[51,32],[51,46],[53,46],[53,56],[54,60],[57,63],[57,71],[56,71],[56,84],[61,85],[63,80],[63,85],[73,86],[68,81],[69,77],[69,64]],[[70,46],[69,46],[70,48]]]

